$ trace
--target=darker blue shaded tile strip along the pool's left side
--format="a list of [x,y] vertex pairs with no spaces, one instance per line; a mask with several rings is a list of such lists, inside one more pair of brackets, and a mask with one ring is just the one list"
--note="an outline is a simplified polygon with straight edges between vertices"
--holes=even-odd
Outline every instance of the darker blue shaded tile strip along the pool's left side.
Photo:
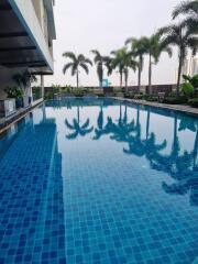
[[0,162],[0,263],[66,263],[56,125],[26,124]]

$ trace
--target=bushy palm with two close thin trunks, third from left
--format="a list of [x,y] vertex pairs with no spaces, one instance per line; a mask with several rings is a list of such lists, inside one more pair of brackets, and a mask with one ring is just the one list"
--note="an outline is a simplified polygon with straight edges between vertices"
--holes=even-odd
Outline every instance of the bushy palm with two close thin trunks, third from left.
[[114,56],[111,61],[112,68],[119,69],[120,74],[120,87],[122,87],[123,75],[125,79],[125,92],[128,92],[128,77],[129,77],[129,68],[133,70],[136,69],[138,63],[134,61],[132,53],[128,52],[127,47],[122,47],[118,51],[111,52]]

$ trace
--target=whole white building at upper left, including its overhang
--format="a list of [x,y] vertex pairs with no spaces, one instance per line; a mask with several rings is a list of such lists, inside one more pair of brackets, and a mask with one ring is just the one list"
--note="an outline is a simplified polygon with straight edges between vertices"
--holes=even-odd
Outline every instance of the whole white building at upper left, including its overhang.
[[0,0],[1,100],[14,74],[53,74],[54,4],[54,0]]

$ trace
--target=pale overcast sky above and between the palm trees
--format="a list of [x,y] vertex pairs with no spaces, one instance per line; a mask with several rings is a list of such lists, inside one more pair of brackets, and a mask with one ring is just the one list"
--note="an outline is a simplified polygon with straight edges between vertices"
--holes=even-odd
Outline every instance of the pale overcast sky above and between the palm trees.
[[[63,75],[66,61],[64,52],[82,53],[94,58],[91,50],[98,50],[102,55],[123,47],[127,38],[150,36],[158,28],[172,23],[172,11],[180,0],[56,0],[55,24],[57,40],[54,41],[53,76],[45,77],[45,85],[76,85],[76,78],[70,72]],[[153,84],[173,84],[176,80],[177,50],[172,58],[167,54],[161,56],[153,66]],[[147,84],[147,57],[142,75],[142,84]],[[105,75],[107,77],[107,75]],[[119,85],[117,70],[107,77],[113,86]],[[136,85],[138,72],[130,73],[129,85]],[[98,86],[96,67],[89,75],[81,69],[80,86]]]

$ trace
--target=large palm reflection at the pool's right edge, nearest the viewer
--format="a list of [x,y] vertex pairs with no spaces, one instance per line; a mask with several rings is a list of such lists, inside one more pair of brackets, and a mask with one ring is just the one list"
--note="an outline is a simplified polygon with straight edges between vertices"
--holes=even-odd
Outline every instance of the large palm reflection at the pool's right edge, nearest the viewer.
[[[154,162],[152,162],[152,168],[163,170],[176,180],[176,183],[170,185],[163,182],[162,187],[167,194],[186,195],[187,193],[190,193],[190,204],[198,206],[198,166],[196,162],[198,155],[198,125],[194,151],[191,153],[185,151],[183,155],[179,155],[180,146],[177,131],[190,128],[186,127],[186,123],[183,120],[178,129],[177,119],[177,114],[175,114],[174,140],[170,154],[164,156],[158,154]],[[196,125],[191,127],[190,130],[195,132],[195,128]]]

